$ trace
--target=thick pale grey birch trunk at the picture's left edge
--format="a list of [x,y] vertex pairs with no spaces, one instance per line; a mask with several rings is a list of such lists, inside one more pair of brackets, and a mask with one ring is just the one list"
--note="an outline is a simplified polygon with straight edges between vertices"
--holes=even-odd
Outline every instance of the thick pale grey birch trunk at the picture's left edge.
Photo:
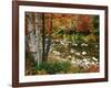
[[38,65],[42,62],[42,35],[41,35],[41,28],[40,28],[40,14],[38,13],[27,13],[28,15],[28,35],[27,35],[27,43],[29,51]]

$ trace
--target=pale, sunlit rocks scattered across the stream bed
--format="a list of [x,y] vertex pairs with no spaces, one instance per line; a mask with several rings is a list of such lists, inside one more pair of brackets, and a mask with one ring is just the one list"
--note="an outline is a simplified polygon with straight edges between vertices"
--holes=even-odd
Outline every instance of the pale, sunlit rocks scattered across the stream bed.
[[[74,47],[72,47],[74,46]],[[87,50],[81,50],[81,47],[84,47]],[[99,58],[95,56],[92,56],[89,54],[88,48],[89,44],[82,43],[71,43],[68,41],[62,40],[54,40],[52,41],[52,44],[50,46],[49,57],[52,56],[51,59],[58,59],[68,62],[70,61],[72,66],[82,67],[84,69],[88,69],[91,65],[99,65]],[[95,47],[98,50],[98,44],[94,44],[92,47]],[[77,48],[80,48],[77,51]]]

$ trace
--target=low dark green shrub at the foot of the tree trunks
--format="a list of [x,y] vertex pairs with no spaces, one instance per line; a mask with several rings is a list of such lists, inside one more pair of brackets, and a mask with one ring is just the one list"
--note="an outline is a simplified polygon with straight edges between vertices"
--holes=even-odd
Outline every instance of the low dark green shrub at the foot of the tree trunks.
[[59,74],[60,72],[65,73],[67,68],[69,68],[70,66],[70,62],[42,62],[39,66],[34,65],[33,70],[39,70],[39,75],[42,73]]

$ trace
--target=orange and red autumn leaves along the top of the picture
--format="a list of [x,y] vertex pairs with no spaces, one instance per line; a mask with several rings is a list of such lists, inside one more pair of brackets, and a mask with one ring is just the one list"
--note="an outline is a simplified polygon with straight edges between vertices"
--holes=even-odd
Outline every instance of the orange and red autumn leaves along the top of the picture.
[[75,32],[91,32],[93,29],[92,18],[90,15],[81,14],[46,14],[46,30],[50,34],[51,21],[52,29],[72,30]]

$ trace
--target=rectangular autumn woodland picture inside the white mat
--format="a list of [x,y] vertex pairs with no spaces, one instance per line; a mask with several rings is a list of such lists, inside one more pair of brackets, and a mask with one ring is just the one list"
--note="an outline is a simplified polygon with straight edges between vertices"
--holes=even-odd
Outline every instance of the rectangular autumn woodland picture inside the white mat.
[[24,20],[26,75],[99,72],[98,15],[27,12]]

